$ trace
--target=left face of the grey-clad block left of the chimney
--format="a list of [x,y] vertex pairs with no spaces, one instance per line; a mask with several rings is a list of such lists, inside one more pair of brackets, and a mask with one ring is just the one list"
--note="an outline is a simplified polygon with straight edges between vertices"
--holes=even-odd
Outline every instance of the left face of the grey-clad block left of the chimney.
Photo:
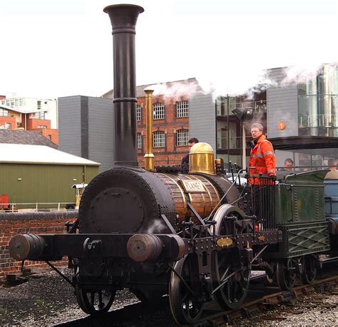
[[81,96],[58,98],[58,149],[81,157]]

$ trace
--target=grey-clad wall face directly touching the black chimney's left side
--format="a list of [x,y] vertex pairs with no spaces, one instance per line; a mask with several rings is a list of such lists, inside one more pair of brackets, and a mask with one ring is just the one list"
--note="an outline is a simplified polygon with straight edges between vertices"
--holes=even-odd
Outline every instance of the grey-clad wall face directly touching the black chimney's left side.
[[100,162],[100,172],[114,165],[113,101],[88,98],[88,158]]

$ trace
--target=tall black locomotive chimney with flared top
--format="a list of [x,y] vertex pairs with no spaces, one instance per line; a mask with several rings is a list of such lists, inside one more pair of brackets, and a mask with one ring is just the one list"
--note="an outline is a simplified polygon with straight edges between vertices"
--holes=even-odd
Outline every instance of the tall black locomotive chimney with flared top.
[[113,27],[115,165],[137,166],[135,25],[144,9],[116,4],[103,11]]

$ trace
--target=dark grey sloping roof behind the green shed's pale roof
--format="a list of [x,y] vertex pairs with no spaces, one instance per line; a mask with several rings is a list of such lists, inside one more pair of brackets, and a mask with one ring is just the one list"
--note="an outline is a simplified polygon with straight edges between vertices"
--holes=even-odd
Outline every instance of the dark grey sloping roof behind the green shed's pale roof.
[[46,145],[54,149],[58,148],[58,145],[35,130],[0,130],[0,143]]

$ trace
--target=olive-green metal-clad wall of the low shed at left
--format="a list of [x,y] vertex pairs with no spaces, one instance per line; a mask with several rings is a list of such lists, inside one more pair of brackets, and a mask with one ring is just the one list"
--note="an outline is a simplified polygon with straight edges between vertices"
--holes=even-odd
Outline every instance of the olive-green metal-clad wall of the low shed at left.
[[[97,166],[87,166],[86,182],[97,174]],[[71,186],[76,181],[82,182],[82,178],[81,165],[1,164],[0,194],[9,194],[10,203],[74,202],[75,193]],[[35,206],[27,204],[24,207]]]

